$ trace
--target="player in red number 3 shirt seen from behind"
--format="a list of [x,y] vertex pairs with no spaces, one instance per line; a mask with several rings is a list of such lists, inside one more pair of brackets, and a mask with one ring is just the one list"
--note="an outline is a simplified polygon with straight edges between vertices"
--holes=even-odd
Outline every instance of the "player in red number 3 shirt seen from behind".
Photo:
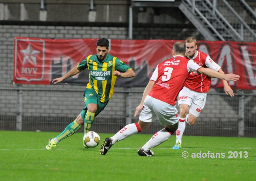
[[101,155],[106,155],[110,147],[117,141],[124,140],[134,133],[148,129],[151,122],[158,119],[160,124],[164,125],[164,129],[156,132],[138,150],[140,156],[153,156],[150,148],[156,147],[167,140],[178,128],[179,116],[175,108],[175,102],[190,72],[204,73],[219,79],[238,80],[238,75],[221,74],[209,68],[202,68],[193,60],[186,59],[184,57],[185,52],[185,43],[181,41],[174,43],[172,49],[173,57],[157,65],[144,90],[141,103],[136,108],[134,117],[141,110],[139,122],[127,124],[111,138],[105,138],[100,147]]

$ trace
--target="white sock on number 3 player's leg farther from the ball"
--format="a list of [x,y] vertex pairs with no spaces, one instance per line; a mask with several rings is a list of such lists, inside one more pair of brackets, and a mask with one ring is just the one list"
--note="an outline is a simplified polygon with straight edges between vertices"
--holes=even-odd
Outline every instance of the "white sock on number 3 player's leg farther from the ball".
[[[168,130],[168,131],[167,131]],[[143,150],[144,151],[148,151],[150,150],[150,148],[154,148],[157,145],[160,145],[161,143],[163,143],[164,141],[168,140],[168,138],[173,134],[173,132],[171,132],[171,130],[169,130],[168,128],[164,128],[160,131],[158,131],[157,133],[155,133],[150,140],[148,140],[148,142],[143,145]]]

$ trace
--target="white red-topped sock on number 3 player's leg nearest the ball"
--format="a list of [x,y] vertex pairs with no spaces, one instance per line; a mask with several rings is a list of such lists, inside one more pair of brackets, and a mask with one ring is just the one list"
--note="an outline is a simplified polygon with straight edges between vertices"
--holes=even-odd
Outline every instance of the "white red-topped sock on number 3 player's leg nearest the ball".
[[112,145],[116,143],[116,141],[124,140],[125,138],[133,135],[134,133],[141,132],[139,123],[127,124],[118,131],[114,136],[112,136]]

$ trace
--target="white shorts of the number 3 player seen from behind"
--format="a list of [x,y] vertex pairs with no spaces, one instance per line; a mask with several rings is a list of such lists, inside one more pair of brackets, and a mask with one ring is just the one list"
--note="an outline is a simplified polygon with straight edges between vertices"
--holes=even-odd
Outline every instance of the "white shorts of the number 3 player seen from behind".
[[143,122],[151,123],[158,119],[161,125],[172,125],[179,121],[178,111],[171,104],[147,95],[143,106],[139,118]]

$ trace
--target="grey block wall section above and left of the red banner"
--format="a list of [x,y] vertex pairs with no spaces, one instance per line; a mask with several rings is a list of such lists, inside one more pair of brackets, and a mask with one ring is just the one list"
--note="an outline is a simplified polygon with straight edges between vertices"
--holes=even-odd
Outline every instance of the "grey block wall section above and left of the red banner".
[[[13,71],[13,48],[15,37],[36,37],[55,39],[109,38],[128,39],[127,27],[88,27],[88,26],[18,26],[0,25],[0,81],[10,83]],[[194,36],[204,40],[196,29],[180,28],[134,28],[133,39],[172,39],[185,40]],[[83,59],[83,57],[81,57]]]

